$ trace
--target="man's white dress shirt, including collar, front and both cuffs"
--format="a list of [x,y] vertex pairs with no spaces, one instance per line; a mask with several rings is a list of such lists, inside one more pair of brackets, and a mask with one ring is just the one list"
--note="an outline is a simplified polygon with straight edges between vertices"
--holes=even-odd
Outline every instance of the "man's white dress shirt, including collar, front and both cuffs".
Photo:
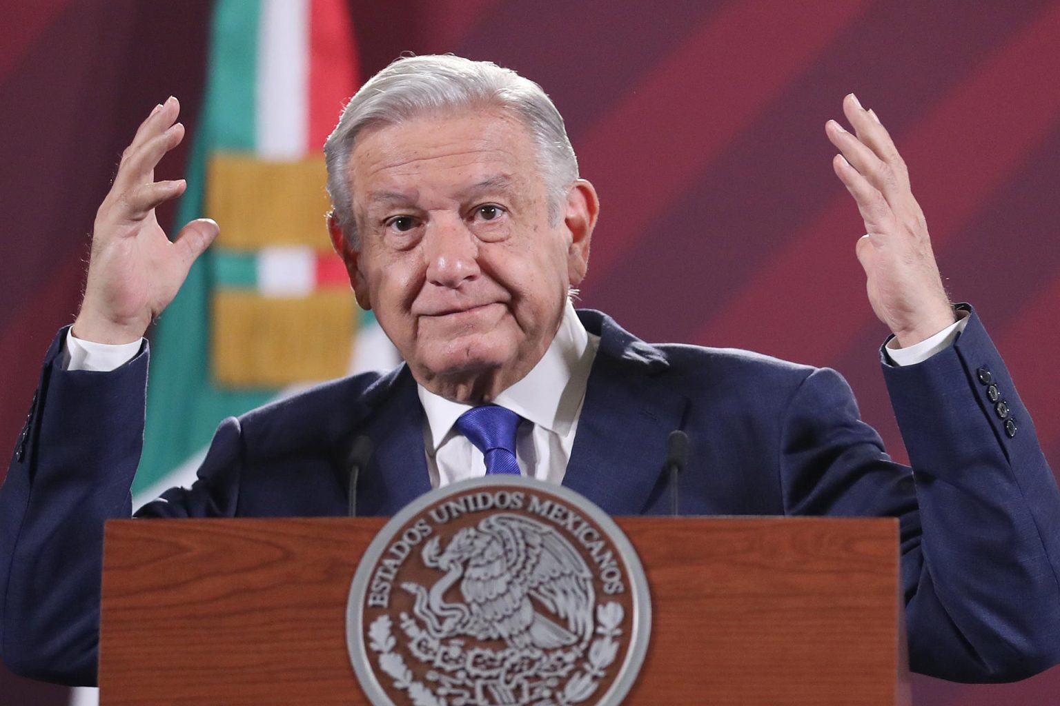
[[[967,312],[935,336],[898,348],[891,340],[884,347],[896,365],[915,365],[950,346],[968,324]],[[516,434],[515,455],[524,475],[561,483],[578,432],[589,370],[600,337],[585,330],[568,302],[560,330],[545,355],[525,378],[500,393],[494,403],[518,414],[525,421]],[[83,341],[67,332],[63,365],[68,370],[112,370],[140,350],[142,341],[108,345]],[[482,452],[454,429],[457,418],[471,409],[417,385],[424,410],[423,448],[427,472],[435,488],[485,474]]]

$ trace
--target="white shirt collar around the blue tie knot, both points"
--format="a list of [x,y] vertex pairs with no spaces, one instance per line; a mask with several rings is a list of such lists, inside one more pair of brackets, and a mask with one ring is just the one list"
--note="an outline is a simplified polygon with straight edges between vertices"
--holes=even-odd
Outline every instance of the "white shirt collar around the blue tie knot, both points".
[[[567,434],[585,396],[593,367],[596,347],[589,343],[589,333],[568,301],[560,329],[545,355],[526,377],[497,395],[494,403],[538,427]],[[445,399],[419,383],[417,390],[430,432],[427,452],[434,455],[452,433],[457,418],[472,405]]]

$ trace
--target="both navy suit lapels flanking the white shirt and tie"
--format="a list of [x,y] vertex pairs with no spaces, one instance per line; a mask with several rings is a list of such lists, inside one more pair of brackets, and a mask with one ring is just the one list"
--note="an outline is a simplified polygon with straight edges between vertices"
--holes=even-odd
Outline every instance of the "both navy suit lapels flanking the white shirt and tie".
[[[600,346],[589,374],[563,485],[611,514],[638,514],[662,472],[667,437],[681,429],[687,398],[659,384],[660,350],[596,311],[580,311]],[[356,434],[375,448],[357,484],[358,514],[393,514],[430,490],[423,408],[407,366],[365,392]]]

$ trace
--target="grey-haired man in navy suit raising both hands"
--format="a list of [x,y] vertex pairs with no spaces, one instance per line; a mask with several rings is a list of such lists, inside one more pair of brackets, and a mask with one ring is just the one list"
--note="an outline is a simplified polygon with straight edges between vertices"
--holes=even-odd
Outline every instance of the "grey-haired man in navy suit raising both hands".
[[[889,460],[833,372],[745,351],[650,345],[576,312],[599,211],[535,84],[457,57],[400,59],[328,141],[332,242],[406,364],[222,422],[190,489],[139,517],[387,514],[494,472],[563,483],[614,514],[894,515],[915,669],[1018,678],[1060,659],[1060,494],[983,326],[955,315],[887,131],[852,95],[833,166],[866,235],[858,256],[894,338],[884,374],[909,469]],[[182,138],[155,108],[95,223],[81,312],[46,360],[0,491],[3,655],[94,677],[102,525],[127,517],[152,320],[217,233],[174,241],[153,168]],[[709,292],[705,292],[709,295]],[[693,453],[669,487],[664,439]],[[351,488],[351,441],[375,453]],[[491,438],[484,438],[491,437]]]

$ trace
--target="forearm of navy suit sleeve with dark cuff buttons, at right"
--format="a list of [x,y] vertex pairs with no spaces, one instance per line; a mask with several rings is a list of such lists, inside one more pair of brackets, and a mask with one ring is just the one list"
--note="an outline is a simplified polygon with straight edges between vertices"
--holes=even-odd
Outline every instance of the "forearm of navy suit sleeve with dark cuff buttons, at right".
[[973,314],[953,346],[884,375],[922,526],[903,557],[911,659],[990,681],[1056,665],[1060,491],[982,322]]

